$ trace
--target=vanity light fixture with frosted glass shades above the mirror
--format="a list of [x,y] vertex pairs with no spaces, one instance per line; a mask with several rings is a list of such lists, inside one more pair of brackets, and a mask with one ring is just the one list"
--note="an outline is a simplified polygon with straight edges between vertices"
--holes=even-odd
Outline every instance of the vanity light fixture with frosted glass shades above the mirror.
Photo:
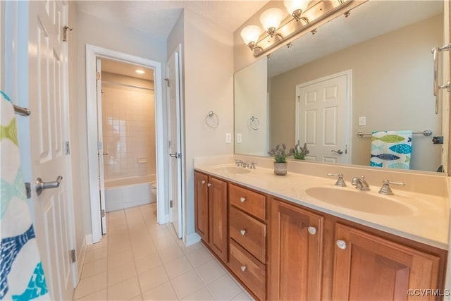
[[289,45],[295,37],[307,32],[315,34],[320,25],[340,14],[349,16],[352,8],[366,1],[284,0],[283,4],[290,16],[283,19],[284,13],[280,8],[268,8],[260,16],[264,32],[257,25],[248,25],[241,30],[241,37],[254,56],[261,56],[279,44]]

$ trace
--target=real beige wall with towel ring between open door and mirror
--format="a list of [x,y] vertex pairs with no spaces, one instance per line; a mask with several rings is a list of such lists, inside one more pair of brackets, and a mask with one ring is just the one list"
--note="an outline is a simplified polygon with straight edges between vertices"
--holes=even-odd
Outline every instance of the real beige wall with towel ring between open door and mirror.
[[[185,225],[194,233],[194,166],[196,156],[233,154],[226,133],[233,133],[233,33],[185,10]],[[204,118],[214,111],[218,128]]]

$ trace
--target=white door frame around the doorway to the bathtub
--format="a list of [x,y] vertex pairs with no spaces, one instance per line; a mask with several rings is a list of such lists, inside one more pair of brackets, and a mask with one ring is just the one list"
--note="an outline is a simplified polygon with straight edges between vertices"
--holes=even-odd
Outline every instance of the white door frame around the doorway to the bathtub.
[[[164,117],[161,63],[139,56],[132,56],[94,45],[86,44],[86,101],[87,101],[87,140],[89,165],[89,195],[91,204],[92,242],[101,240],[101,212],[99,207],[99,162],[97,158],[97,95],[96,59],[105,58],[125,63],[134,63],[154,69],[155,83],[155,128],[156,128],[156,181],[163,185],[167,172],[164,164]],[[166,190],[157,190],[157,221],[166,223]],[[91,242],[91,243],[92,243]],[[89,244],[89,242],[87,242]]]

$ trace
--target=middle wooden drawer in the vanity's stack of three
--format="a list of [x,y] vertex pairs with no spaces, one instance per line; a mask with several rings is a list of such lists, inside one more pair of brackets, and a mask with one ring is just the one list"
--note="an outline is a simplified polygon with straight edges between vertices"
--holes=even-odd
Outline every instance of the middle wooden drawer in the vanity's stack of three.
[[264,263],[266,225],[232,206],[230,207],[229,223],[230,238],[233,238]]

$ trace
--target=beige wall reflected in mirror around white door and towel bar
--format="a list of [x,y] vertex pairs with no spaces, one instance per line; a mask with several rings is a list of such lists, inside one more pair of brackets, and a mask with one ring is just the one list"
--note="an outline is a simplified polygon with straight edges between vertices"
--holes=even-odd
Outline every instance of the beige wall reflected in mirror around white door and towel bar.
[[[295,141],[295,86],[352,69],[352,163],[369,164],[371,140],[357,132],[433,130],[441,135],[432,95],[431,48],[441,44],[443,16],[370,39],[271,79],[271,145]],[[383,45],[383,46],[381,46]],[[358,117],[366,116],[366,126]],[[439,145],[414,135],[411,168],[435,171]]]

